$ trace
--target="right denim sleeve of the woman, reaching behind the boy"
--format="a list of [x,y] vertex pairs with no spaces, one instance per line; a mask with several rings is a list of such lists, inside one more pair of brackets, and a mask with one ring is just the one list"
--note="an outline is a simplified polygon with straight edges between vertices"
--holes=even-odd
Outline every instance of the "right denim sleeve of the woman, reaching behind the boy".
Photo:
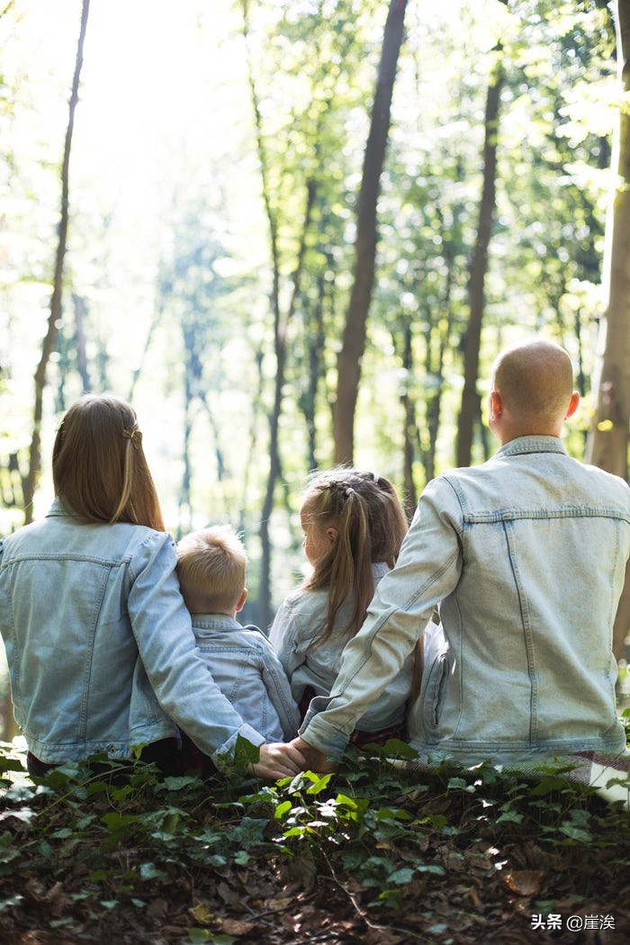
[[129,566],[129,619],[163,711],[217,766],[225,766],[239,735],[257,746],[264,737],[243,722],[199,656],[176,565],[175,542],[152,533]]

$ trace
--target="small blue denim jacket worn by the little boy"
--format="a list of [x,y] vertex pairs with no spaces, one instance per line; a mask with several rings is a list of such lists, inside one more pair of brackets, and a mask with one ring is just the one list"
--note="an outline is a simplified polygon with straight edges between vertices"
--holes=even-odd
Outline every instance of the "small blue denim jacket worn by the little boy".
[[241,717],[265,742],[295,738],[298,706],[263,631],[222,613],[193,614],[193,631],[214,681]]

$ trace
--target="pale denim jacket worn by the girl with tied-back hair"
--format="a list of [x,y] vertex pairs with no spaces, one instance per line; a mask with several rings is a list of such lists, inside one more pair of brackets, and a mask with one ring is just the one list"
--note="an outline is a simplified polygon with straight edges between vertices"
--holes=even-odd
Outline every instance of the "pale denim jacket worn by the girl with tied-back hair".
[[[372,565],[375,586],[388,571],[384,562]],[[305,689],[313,689],[316,696],[328,696],[339,672],[347,640],[345,629],[352,615],[352,599],[345,601],[338,611],[329,639],[312,646],[313,638],[326,619],[327,608],[328,591],[298,589],[281,604],[269,633],[298,702]],[[377,732],[404,721],[413,669],[414,658],[410,655],[386,691],[366,707],[357,722],[357,730]]]

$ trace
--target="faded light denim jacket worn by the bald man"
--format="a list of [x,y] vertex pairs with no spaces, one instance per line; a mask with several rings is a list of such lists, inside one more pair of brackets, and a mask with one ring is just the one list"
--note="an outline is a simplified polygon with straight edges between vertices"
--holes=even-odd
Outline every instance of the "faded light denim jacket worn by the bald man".
[[446,643],[410,718],[421,757],[621,753],[612,625],[629,549],[627,484],[571,459],[559,438],[517,438],[434,479],[301,733],[339,755],[440,604]]

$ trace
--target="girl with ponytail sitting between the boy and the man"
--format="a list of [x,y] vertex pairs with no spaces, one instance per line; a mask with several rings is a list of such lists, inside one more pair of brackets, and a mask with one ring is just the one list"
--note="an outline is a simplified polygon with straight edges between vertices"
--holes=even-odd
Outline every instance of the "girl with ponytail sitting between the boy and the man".
[[[388,479],[346,467],[313,474],[300,519],[313,573],[282,603],[270,639],[303,715],[313,696],[330,696],[342,650],[363,624],[379,580],[394,567],[407,521]],[[354,745],[406,737],[417,668],[412,654],[359,720]]]

